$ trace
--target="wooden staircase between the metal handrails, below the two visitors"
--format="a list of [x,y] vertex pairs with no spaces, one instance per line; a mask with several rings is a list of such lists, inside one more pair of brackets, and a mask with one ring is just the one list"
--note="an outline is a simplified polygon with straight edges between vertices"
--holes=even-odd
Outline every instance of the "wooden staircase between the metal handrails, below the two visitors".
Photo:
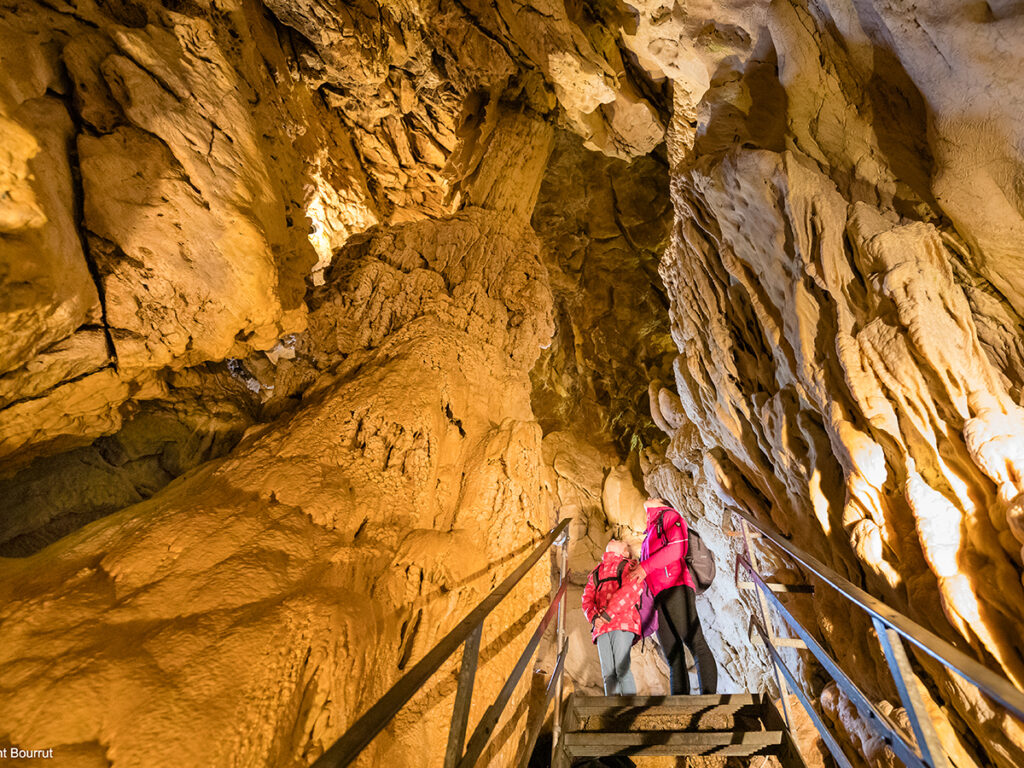
[[690,766],[806,768],[766,695],[572,694],[554,768],[608,757],[687,757],[684,764]]

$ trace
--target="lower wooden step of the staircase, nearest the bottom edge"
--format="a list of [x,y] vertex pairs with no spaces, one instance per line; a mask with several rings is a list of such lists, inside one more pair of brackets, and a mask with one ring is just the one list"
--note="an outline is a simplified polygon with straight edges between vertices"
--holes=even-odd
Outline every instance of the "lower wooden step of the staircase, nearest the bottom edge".
[[566,733],[563,744],[571,758],[612,755],[752,757],[773,755],[782,731],[583,731]]

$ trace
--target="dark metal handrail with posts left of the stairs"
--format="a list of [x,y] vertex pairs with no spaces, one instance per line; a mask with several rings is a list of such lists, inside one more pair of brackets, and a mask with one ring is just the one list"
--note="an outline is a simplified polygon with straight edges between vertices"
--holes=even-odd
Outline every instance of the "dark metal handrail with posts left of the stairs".
[[[344,768],[351,764],[359,753],[365,750],[371,741],[380,733],[387,724],[391,722],[395,715],[404,707],[409,700],[416,695],[427,681],[440,669],[449,657],[458,650],[459,646],[466,642],[467,639],[471,639],[470,643],[467,643],[466,648],[463,651],[463,667],[459,675],[459,690],[456,693],[456,702],[454,707],[453,716],[453,733],[450,736],[456,736],[455,731],[461,725],[461,734],[458,735],[458,756],[454,763],[450,763],[449,759],[445,759],[445,765],[454,765],[462,762],[462,743],[461,740],[465,736],[466,720],[469,717],[469,697],[472,695],[473,678],[475,677],[476,671],[476,656],[479,649],[480,634],[483,627],[484,620],[490,614],[490,612],[498,606],[498,604],[504,600],[512,589],[522,581],[523,577],[529,571],[529,569],[537,564],[544,553],[548,551],[552,544],[554,544],[559,537],[562,536],[565,528],[568,526],[569,520],[564,519],[559,522],[555,527],[548,531],[547,536],[541,541],[537,548],[526,557],[522,563],[516,567],[500,585],[498,585],[486,597],[483,598],[477,604],[469,615],[463,618],[455,628],[449,632],[441,640],[434,645],[426,655],[423,656],[414,667],[407,672],[398,681],[388,689],[381,698],[377,700],[369,710],[367,710],[351,726],[345,731],[341,738],[335,741],[319,758],[316,759],[312,764],[312,768]],[[565,580],[565,558],[566,558],[566,548],[567,537],[562,540],[562,580],[561,584],[558,585],[558,591],[555,597],[552,599],[552,607],[558,603],[561,606],[560,616],[564,616],[564,594],[566,587]],[[547,627],[550,623],[551,608],[545,614],[545,618],[542,620],[542,626]],[[560,622],[559,625],[560,632],[562,635],[564,633],[564,623]],[[542,630],[543,631],[543,630]],[[535,639],[537,642],[535,642]],[[515,680],[518,681],[518,677],[521,676],[524,669],[524,658],[528,659],[529,655],[537,648],[537,644],[540,641],[540,637],[535,633],[535,638],[531,638],[530,643],[527,644],[527,653],[523,653],[520,656],[519,662],[516,664],[513,670],[513,675],[515,675]],[[564,644],[564,637],[560,636],[558,638],[559,647]],[[470,647],[472,646],[472,647]],[[467,653],[467,651],[470,651]],[[558,670],[563,669],[563,667],[558,667]],[[509,679],[512,679],[510,675]],[[506,687],[508,683],[506,683]],[[514,685],[511,686],[514,689]],[[484,715],[483,721],[481,721],[481,726],[484,721],[488,720],[488,715],[492,714],[492,709],[500,705],[500,709],[497,711],[495,716],[495,722],[497,723],[498,716],[501,715],[501,711],[504,710],[505,705],[508,702],[508,697],[502,701],[502,696],[505,694],[505,689],[503,688],[502,693],[499,694],[498,700],[492,705],[488,709],[487,714]],[[508,695],[511,696],[511,689],[508,691]],[[556,707],[559,702],[556,702]],[[461,721],[461,723],[457,722]],[[482,752],[483,748],[486,746],[486,740],[489,738],[489,732],[486,734],[486,738],[482,736],[477,736],[480,732],[480,728],[477,728],[477,732],[474,733],[474,737],[477,743],[480,739],[483,739],[482,743],[479,743],[479,751]],[[453,742],[453,738],[450,737],[450,746]],[[477,743],[474,743],[471,739],[471,749],[476,749]]]

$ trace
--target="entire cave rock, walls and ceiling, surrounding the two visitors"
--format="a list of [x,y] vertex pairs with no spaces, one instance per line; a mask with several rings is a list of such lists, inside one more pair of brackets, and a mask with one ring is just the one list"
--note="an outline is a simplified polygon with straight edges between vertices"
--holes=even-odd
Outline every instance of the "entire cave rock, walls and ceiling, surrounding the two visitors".
[[[642,489],[720,557],[723,684],[774,685],[740,507],[1024,685],[1018,5],[0,5],[0,743],[306,765],[559,510],[579,600]],[[869,623],[813,610],[899,721]],[[957,768],[1024,763],[914,664]],[[366,765],[437,764],[454,669]]]

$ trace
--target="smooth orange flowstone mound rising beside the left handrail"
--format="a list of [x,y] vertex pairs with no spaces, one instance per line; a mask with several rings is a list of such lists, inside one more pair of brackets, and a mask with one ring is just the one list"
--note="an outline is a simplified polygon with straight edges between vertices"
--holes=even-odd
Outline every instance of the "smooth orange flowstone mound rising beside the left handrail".
[[[368,280],[383,282],[373,312]],[[357,348],[299,413],[0,561],[0,674],[22,691],[4,701],[5,738],[69,766],[304,763],[551,524],[526,378],[551,305],[524,222],[467,209],[396,228],[339,254],[328,286],[317,322]],[[536,568],[488,622],[474,720],[549,584]],[[438,764],[455,671],[361,764]],[[520,736],[493,759],[511,762]]]

